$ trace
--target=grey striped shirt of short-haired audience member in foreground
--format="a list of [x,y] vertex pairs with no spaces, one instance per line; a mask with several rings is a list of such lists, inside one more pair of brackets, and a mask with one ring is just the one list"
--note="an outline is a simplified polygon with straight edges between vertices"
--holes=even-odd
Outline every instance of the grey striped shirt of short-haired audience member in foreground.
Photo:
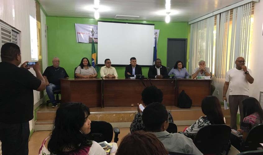
[[186,137],[179,133],[169,133],[167,131],[151,132],[154,134],[163,144],[167,151],[190,153],[196,155],[203,155],[198,148],[196,148],[191,138]]

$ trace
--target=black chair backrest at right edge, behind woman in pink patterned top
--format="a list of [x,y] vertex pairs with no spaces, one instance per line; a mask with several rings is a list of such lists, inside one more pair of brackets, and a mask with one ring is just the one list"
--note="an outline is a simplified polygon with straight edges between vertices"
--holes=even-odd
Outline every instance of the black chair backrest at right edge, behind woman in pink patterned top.
[[243,143],[243,151],[252,151],[261,147],[259,143],[263,143],[263,124],[254,126],[247,134],[247,139]]

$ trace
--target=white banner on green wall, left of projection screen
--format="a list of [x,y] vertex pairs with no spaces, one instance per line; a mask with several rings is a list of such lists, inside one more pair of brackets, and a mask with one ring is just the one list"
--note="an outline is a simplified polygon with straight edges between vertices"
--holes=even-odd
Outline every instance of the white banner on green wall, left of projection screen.
[[98,25],[76,24],[77,42],[91,43],[92,30],[94,31],[94,42],[98,43]]

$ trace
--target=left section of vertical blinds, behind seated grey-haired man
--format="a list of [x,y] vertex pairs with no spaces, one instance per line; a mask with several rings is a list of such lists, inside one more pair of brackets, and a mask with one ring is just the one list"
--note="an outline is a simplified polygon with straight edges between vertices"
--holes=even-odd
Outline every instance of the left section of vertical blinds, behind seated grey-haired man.
[[193,73],[200,60],[205,60],[206,66],[213,69],[215,16],[191,24],[189,73]]

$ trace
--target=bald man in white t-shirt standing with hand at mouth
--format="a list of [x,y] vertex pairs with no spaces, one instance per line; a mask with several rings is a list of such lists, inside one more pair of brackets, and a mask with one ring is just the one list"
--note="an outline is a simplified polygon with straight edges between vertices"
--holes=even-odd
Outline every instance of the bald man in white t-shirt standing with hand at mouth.
[[224,84],[223,100],[227,100],[226,92],[229,87],[228,103],[231,114],[231,129],[237,130],[237,113],[238,106],[240,112],[240,125],[243,121],[243,104],[242,100],[248,98],[248,83],[252,84],[252,72],[245,66],[245,59],[238,57],[235,61],[236,68],[228,70]]

